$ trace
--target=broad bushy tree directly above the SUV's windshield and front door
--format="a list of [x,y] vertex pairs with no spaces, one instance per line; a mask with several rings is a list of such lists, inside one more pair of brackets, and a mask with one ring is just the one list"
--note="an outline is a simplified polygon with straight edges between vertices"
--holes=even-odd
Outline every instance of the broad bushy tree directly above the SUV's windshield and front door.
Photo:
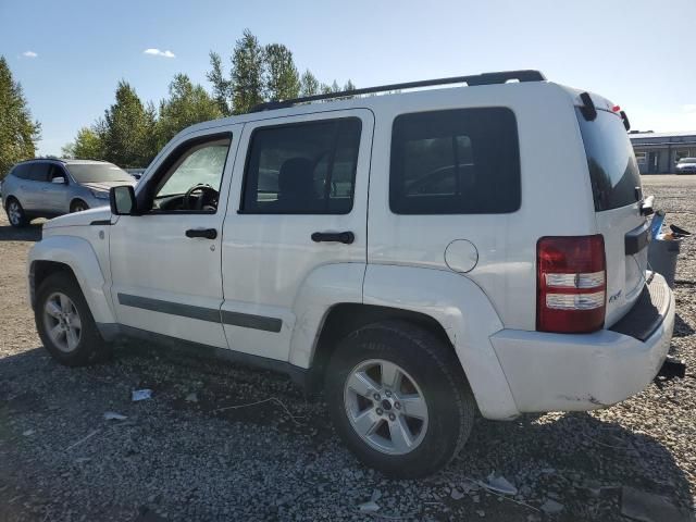
[[189,125],[222,116],[217,100],[200,85],[194,85],[187,75],[177,74],[170,84],[169,98],[160,102],[158,148]]

